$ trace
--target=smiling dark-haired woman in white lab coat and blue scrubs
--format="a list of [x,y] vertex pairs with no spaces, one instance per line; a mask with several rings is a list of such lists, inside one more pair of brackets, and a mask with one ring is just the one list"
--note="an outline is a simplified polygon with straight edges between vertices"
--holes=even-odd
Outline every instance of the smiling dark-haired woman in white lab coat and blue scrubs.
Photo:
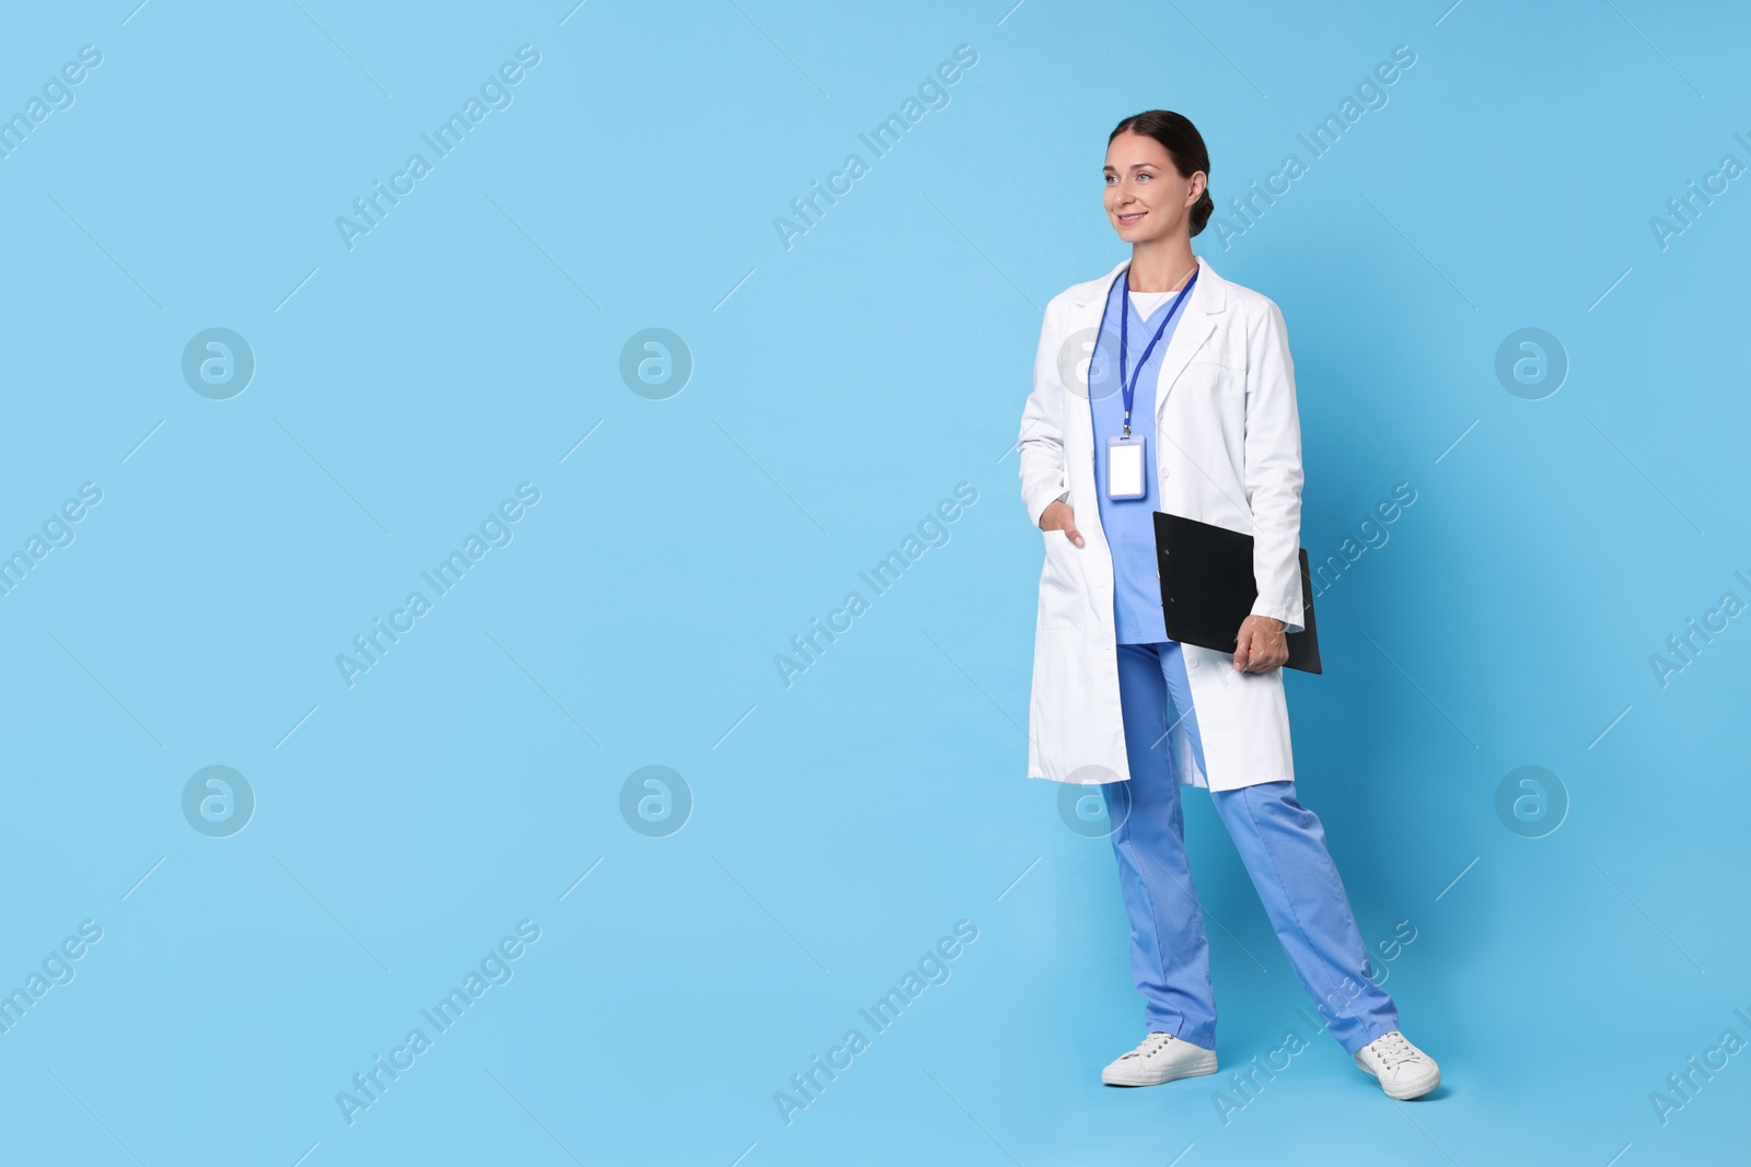
[[[1213,1074],[1215,1001],[1180,786],[1203,786],[1333,1038],[1387,1095],[1441,1081],[1369,978],[1319,817],[1296,801],[1280,665],[1301,632],[1301,422],[1276,304],[1192,255],[1210,154],[1182,115],[1126,117],[1107,217],[1131,259],[1052,297],[1021,420],[1021,495],[1045,534],[1028,773],[1100,784],[1147,1036],[1101,1081]],[[1154,511],[1254,537],[1234,651],[1168,639]]]

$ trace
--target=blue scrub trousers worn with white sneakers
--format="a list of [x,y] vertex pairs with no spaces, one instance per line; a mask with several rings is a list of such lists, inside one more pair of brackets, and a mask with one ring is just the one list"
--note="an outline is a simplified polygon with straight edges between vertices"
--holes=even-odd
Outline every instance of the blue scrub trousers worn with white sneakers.
[[[1101,793],[1115,824],[1112,849],[1131,917],[1131,976],[1143,996],[1149,1032],[1170,1032],[1213,1050],[1210,945],[1185,861],[1180,780],[1168,752],[1168,728],[1184,719],[1203,765],[1185,658],[1173,640],[1121,644],[1117,651],[1131,780],[1103,784]],[[1397,1029],[1392,997],[1368,976],[1368,947],[1326,850],[1326,831],[1296,801],[1294,782],[1210,791],[1210,801],[1331,1036],[1355,1053]]]

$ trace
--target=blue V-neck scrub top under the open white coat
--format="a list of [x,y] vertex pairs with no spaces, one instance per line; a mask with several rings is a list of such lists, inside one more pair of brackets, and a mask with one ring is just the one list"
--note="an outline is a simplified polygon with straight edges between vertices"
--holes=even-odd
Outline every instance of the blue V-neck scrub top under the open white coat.
[[[1131,350],[1126,353],[1126,369],[1136,374],[1136,397],[1131,401],[1131,434],[1145,434],[1149,448],[1143,457],[1143,497],[1108,499],[1107,497],[1107,436],[1124,432],[1124,394],[1119,390],[1119,313],[1124,311],[1124,283],[1131,278],[1126,268],[1112,282],[1107,292],[1107,311],[1101,318],[1100,339],[1096,341],[1096,359],[1089,367],[1089,409],[1094,415],[1094,499],[1100,506],[1100,525],[1107,532],[1107,544],[1112,548],[1112,618],[1119,644],[1163,644],[1168,639],[1168,625],[1161,614],[1161,579],[1156,565],[1156,520],[1161,509],[1161,490],[1156,483],[1156,380],[1161,376],[1161,359],[1168,352],[1168,341],[1185,315],[1185,304],[1173,313],[1156,350],[1142,371],[1136,359],[1149,345],[1161,313],[1173,306],[1178,292],[1163,299],[1147,320],[1131,304]],[[1185,297],[1187,301],[1191,296]]]

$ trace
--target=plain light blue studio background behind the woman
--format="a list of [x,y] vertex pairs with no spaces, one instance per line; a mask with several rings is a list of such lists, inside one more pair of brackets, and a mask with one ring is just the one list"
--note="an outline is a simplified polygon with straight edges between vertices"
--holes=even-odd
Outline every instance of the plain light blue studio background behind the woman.
[[[1751,598],[1751,192],[1649,229],[1751,163],[1740,7],[133,3],[0,38],[5,112],[103,52],[0,159],[0,549],[103,490],[0,598],[0,989],[103,927],[0,1034],[5,1158],[1742,1153],[1751,1057],[1665,1125],[1648,1097],[1751,1038],[1751,630],[1649,665]],[[334,219],[524,44],[515,103],[348,250]],[[786,250],[774,217],[963,44],[951,103]],[[1401,44],[1383,108],[1194,243],[1289,322],[1310,553],[1417,492],[1289,688],[1364,936],[1417,929],[1389,989],[1445,1085],[1394,1104],[1319,1038],[1224,1125],[1306,1001],[1194,796],[1224,1073],[1098,1085],[1142,1006],[1108,843],[1024,777],[1010,443],[1045,301],[1126,254],[1114,122],[1187,114],[1227,215]],[[208,327],[257,360],[231,401],[180,374]],[[695,362],[667,401],[618,373],[646,327]],[[1523,327],[1571,360],[1541,401],[1495,376]],[[334,656],[524,481],[515,541],[348,689]],[[963,481],[786,688],[774,654]],[[180,810],[208,765],[257,798],[229,838]],[[695,803],[667,838],[620,814],[648,765]],[[1495,812],[1522,765],[1571,800],[1543,838]],[[348,1127],[336,1092],[524,919],[515,978]],[[947,983],[786,1127],[772,1094],[963,919]]]

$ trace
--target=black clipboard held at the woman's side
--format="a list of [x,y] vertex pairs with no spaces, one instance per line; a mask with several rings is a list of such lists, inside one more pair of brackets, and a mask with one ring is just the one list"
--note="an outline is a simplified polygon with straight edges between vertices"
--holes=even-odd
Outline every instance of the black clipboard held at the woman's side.
[[[1299,560],[1303,630],[1289,633],[1283,667],[1322,672],[1306,548],[1299,548]],[[1156,511],[1156,562],[1161,567],[1161,612],[1168,637],[1233,653],[1234,633],[1259,598],[1252,576],[1252,535]]]

